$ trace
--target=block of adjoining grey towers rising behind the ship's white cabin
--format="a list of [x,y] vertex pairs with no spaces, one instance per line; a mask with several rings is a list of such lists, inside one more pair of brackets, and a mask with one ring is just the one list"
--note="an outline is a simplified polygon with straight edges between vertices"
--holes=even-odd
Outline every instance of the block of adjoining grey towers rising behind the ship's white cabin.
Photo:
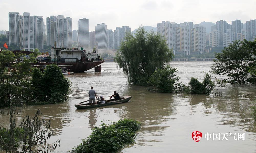
[[46,18],[47,44],[56,47],[72,47],[72,19],[63,15]]

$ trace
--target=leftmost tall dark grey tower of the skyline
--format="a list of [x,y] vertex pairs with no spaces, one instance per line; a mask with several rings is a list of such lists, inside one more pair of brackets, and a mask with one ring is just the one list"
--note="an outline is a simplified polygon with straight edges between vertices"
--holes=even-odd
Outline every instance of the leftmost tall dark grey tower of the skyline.
[[19,12],[9,12],[9,45],[19,46],[20,18]]

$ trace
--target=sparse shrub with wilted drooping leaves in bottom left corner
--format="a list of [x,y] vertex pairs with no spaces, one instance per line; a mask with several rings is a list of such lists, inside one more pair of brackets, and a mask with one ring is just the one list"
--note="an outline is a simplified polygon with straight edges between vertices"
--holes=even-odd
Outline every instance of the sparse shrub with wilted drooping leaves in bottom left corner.
[[[16,126],[16,120],[14,115],[19,113],[10,107],[10,126],[9,129],[0,129],[0,145],[9,153],[25,153],[36,152],[43,153],[53,151],[57,145],[60,146],[60,139],[52,144],[47,144],[46,141],[53,134],[53,130],[50,130],[50,121],[46,122],[44,119],[40,120],[39,116],[41,111],[38,109],[33,118],[29,118],[27,115],[20,125]],[[1,114],[6,114],[1,111]],[[41,148],[35,148],[40,145]]]

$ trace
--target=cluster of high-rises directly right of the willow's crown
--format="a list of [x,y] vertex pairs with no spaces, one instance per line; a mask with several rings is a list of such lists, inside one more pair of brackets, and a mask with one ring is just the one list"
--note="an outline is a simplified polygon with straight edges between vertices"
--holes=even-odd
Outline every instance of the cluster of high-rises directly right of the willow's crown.
[[206,27],[199,25],[193,27],[193,22],[177,24],[162,21],[162,23],[157,23],[157,33],[166,39],[168,47],[173,49],[174,54],[203,53],[206,47]]

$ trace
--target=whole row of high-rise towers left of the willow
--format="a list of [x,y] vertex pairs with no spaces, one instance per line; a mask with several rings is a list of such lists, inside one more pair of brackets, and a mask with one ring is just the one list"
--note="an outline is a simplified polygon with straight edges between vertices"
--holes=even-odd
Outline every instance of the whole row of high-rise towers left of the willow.
[[[95,26],[95,31],[89,32],[89,19],[78,20],[77,30],[72,31],[72,19],[62,15],[46,18],[46,25],[42,16],[30,16],[24,12],[9,12],[9,44],[18,45],[27,51],[38,48],[44,49],[46,45],[72,48],[72,41],[77,41],[78,47],[109,50],[117,49],[124,40],[126,32],[131,28],[123,26],[116,28],[115,33],[107,29],[104,23]],[[2,31],[1,31],[2,32]],[[4,33],[4,32],[2,32]],[[115,44],[115,45],[114,45]]]

